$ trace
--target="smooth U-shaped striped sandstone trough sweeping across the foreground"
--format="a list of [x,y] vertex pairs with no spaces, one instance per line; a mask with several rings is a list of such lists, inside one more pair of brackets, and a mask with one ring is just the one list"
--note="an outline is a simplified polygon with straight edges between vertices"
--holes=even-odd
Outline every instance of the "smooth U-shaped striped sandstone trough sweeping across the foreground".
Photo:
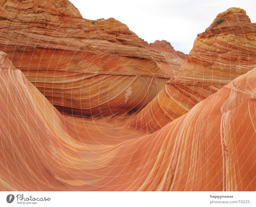
[[256,68],[155,133],[112,130],[107,144],[0,57],[1,190],[256,190]]

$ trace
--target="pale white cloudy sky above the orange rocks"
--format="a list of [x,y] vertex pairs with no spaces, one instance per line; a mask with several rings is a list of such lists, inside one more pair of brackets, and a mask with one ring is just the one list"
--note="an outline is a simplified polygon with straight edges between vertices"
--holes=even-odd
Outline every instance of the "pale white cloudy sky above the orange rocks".
[[255,0],[70,0],[83,18],[113,17],[145,41],[166,40],[176,50],[189,53],[198,33],[210,26],[218,13],[230,7],[244,9],[256,22]]

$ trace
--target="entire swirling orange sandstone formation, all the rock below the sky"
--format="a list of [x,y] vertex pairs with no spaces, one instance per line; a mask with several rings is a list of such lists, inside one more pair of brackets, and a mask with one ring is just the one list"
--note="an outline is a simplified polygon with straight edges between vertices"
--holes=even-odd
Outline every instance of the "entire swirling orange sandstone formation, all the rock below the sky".
[[1,2],[2,191],[256,190],[244,10],[220,13],[186,57],[113,18],[43,2]]

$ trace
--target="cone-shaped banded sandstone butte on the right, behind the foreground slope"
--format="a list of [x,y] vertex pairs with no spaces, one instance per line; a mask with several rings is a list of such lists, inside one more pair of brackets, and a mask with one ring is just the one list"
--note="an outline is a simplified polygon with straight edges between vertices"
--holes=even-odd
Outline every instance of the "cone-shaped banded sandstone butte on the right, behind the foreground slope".
[[256,67],[256,24],[230,8],[217,15],[173,76],[130,125],[156,131],[187,113],[231,80]]

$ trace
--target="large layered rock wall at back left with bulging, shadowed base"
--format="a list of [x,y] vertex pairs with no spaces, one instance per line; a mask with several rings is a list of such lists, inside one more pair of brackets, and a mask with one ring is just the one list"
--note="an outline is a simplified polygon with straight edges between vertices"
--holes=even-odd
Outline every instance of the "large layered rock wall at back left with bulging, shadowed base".
[[175,50],[150,48],[114,18],[82,18],[69,1],[1,3],[0,49],[64,113],[97,116],[100,107],[130,116],[184,61]]

